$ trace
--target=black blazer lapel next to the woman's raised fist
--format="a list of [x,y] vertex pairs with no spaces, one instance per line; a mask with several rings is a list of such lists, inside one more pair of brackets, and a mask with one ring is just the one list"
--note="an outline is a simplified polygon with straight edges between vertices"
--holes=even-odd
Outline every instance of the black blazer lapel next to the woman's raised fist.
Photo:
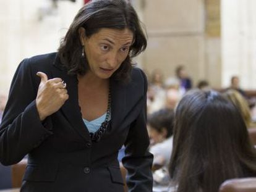
[[69,99],[67,99],[61,107],[60,111],[64,114],[70,125],[72,125],[79,135],[82,136],[82,138],[90,140],[89,131],[83,123],[82,114],[80,112],[77,76],[67,75],[66,70],[61,69],[58,56],[56,56],[54,66],[58,69],[53,70],[53,77],[59,77],[67,84],[66,89],[69,94]]

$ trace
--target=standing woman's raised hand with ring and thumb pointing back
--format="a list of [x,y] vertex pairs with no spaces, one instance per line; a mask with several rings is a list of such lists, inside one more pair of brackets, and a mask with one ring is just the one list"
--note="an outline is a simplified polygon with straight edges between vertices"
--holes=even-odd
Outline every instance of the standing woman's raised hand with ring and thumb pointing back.
[[36,108],[40,120],[44,120],[49,115],[58,111],[65,101],[69,98],[66,86],[61,78],[49,79],[45,73],[37,72],[41,78],[36,96]]

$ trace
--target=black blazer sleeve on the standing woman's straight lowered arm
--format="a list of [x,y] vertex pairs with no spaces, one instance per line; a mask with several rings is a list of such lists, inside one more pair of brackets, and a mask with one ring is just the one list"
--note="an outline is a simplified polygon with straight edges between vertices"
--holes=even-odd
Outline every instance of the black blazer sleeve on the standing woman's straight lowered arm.
[[[140,70],[141,71],[141,70]],[[130,125],[126,146],[126,156],[122,164],[127,169],[127,186],[130,192],[152,191],[153,177],[151,166],[153,155],[148,152],[150,144],[147,131],[147,78],[141,71],[144,81],[143,107],[137,119]]]

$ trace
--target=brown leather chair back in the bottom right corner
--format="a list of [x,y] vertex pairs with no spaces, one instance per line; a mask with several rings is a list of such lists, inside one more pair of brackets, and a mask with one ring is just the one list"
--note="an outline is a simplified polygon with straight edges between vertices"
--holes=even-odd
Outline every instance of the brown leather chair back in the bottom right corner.
[[234,178],[226,180],[220,186],[219,192],[255,192],[256,177]]

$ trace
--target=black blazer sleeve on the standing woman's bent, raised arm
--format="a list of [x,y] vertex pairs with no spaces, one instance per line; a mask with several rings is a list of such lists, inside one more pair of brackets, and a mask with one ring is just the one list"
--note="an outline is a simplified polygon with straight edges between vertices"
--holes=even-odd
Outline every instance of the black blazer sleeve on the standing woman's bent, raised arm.
[[46,118],[42,123],[36,109],[38,79],[35,78],[30,59],[24,59],[12,79],[0,125],[0,162],[4,165],[19,162],[52,134],[51,120]]

